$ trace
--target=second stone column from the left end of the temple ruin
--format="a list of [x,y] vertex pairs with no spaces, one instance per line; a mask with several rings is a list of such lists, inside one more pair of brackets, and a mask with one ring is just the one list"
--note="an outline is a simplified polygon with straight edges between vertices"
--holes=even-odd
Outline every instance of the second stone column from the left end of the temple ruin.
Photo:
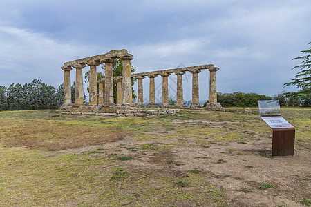
[[86,65],[76,64],[73,66],[75,68],[75,105],[85,106],[84,104],[84,90],[83,90],[83,73],[82,68]]

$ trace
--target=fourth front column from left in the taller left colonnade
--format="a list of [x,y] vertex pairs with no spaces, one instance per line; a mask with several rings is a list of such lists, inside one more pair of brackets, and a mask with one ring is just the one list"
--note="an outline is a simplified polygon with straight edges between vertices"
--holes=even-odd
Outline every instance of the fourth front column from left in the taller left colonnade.
[[114,105],[113,102],[113,62],[115,60],[112,58],[104,59],[104,63],[106,63],[105,69],[105,105],[111,106]]

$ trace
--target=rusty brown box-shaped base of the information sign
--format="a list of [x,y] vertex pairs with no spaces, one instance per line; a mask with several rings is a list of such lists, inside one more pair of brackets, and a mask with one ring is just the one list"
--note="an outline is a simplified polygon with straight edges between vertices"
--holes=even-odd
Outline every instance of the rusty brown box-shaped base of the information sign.
[[294,155],[295,128],[272,128],[272,156]]

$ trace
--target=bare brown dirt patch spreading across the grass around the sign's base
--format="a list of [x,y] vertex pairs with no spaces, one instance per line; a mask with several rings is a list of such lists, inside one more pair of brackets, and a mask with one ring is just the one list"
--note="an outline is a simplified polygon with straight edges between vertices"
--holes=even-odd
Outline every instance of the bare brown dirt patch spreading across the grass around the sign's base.
[[[139,144],[169,146],[181,139],[140,141]],[[118,165],[131,170],[153,171],[183,176],[187,170],[198,169],[211,178],[211,183],[225,191],[230,206],[305,206],[299,201],[311,199],[310,150],[294,150],[294,156],[271,158],[272,139],[232,142],[227,146],[210,144],[207,148],[191,147],[194,139],[187,138],[187,146],[167,150],[133,150],[138,142],[133,137],[98,146],[68,149],[53,153],[83,153],[104,148],[92,156],[127,155],[130,161]],[[310,149],[310,146],[307,148]],[[260,156],[261,154],[262,156]],[[264,157],[267,155],[267,157]],[[167,164],[167,161],[171,164]],[[177,165],[176,165],[177,164]],[[261,190],[258,186],[272,185]],[[190,204],[189,204],[190,205]],[[185,205],[187,206],[187,205]]]

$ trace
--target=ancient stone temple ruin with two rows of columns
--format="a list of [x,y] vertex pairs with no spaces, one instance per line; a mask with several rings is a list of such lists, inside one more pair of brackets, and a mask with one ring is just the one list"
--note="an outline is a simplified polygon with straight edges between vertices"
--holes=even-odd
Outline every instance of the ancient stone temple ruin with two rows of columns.
[[[120,58],[123,61],[123,74],[120,77],[113,77],[113,61],[115,58]],[[207,109],[221,110],[222,107],[217,103],[216,94],[216,71],[219,68],[214,65],[192,66],[186,68],[176,68],[168,70],[158,70],[153,72],[142,72],[131,74],[131,60],[133,55],[129,54],[127,50],[116,50],[107,52],[102,55],[95,55],[93,57],[86,57],[64,63],[62,70],[64,70],[64,104],[61,108],[63,111],[72,112],[117,112],[118,110],[128,110],[137,107],[144,107],[143,103],[143,85],[142,79],[149,77],[149,103],[147,107],[158,107],[156,104],[156,92],[154,79],[160,75],[162,76],[162,104],[160,107],[169,106],[169,75],[175,74],[177,76],[177,92],[176,104],[170,107],[183,106],[183,90],[182,90],[182,75],[186,71],[192,74],[192,107],[199,105],[198,93],[198,73],[201,70],[208,69],[210,72],[209,77],[209,103]],[[100,63],[106,63],[105,78],[97,84],[96,67]],[[82,68],[90,66],[89,76],[89,106],[84,103],[84,90],[83,90],[83,73]],[[71,103],[71,83],[70,71],[75,68],[75,103]],[[132,87],[131,79],[138,80],[138,103],[132,103]],[[113,99],[113,81],[117,81],[117,100],[116,104]],[[97,88],[98,85],[98,88]]]

